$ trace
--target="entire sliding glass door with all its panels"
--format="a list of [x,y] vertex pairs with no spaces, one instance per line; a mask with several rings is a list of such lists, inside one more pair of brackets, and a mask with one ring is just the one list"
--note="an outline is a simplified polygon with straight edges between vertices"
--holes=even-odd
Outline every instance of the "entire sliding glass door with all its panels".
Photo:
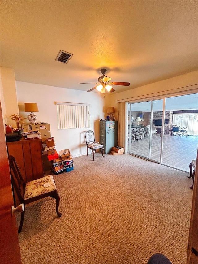
[[128,153],[189,171],[198,145],[198,94],[128,104]]

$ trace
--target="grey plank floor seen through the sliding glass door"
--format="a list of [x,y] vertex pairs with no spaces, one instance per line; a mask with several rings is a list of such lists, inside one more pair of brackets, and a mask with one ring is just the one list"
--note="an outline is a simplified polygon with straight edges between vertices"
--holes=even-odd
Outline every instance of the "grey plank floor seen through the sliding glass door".
[[[171,167],[189,172],[189,164],[196,159],[198,137],[197,136],[173,136],[164,135],[162,163]],[[161,137],[152,135],[151,159],[160,161]],[[149,157],[149,138],[139,139],[128,145],[128,153]]]

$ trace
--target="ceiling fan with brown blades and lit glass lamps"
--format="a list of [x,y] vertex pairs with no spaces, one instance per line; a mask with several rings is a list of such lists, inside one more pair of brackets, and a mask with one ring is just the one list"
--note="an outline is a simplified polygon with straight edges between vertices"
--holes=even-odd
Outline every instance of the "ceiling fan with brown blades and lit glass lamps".
[[125,82],[110,82],[109,81],[112,79],[110,77],[105,76],[106,69],[101,69],[100,70],[102,73],[102,76],[98,78],[97,83],[80,83],[80,84],[98,84],[94,86],[92,89],[88,90],[88,92],[93,91],[94,89],[97,89],[101,93],[105,93],[105,90],[108,92],[112,93],[115,92],[114,88],[111,85],[124,85],[124,86],[129,86],[130,83],[125,83]]

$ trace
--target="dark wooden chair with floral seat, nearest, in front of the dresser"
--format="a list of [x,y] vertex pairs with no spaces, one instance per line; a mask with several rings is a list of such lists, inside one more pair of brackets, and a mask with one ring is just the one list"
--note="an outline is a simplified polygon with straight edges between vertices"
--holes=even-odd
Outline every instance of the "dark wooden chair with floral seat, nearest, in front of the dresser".
[[[60,197],[54,183],[52,175],[45,176],[43,178],[32,180],[30,182],[25,182],[20,173],[19,167],[13,156],[9,156],[11,183],[14,194],[14,189],[16,191],[17,197],[21,204],[24,204],[24,211],[21,212],[20,226],[18,233],[21,232],[25,216],[25,205],[33,201],[40,200],[45,197],[52,197],[56,199],[56,213],[58,217],[62,214],[58,211]],[[16,206],[16,201],[14,197],[14,204]]]

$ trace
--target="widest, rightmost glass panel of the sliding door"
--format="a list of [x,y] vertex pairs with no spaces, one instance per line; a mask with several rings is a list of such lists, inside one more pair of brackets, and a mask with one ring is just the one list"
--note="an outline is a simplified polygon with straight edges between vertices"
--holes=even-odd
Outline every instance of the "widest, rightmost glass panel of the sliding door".
[[162,164],[189,172],[198,144],[198,94],[166,98]]

